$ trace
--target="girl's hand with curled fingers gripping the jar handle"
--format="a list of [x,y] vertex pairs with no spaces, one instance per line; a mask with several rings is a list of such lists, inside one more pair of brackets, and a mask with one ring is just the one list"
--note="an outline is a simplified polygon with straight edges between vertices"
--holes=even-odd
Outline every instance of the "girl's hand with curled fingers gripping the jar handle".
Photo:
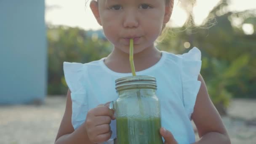
[[90,141],[96,144],[109,140],[112,135],[109,124],[115,120],[115,115],[108,104],[101,104],[87,113],[85,130]]

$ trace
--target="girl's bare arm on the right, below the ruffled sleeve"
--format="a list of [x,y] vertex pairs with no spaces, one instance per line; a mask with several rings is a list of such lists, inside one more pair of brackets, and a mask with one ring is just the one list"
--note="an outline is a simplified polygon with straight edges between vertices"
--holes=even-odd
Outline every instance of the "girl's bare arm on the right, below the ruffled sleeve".
[[192,120],[194,121],[200,140],[195,144],[231,144],[227,130],[214,107],[203,77],[199,75],[201,87],[197,94]]

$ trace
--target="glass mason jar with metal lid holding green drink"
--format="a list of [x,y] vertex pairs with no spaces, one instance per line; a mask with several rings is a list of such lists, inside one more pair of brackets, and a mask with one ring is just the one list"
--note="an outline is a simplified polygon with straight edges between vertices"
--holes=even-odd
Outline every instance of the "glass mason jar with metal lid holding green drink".
[[122,77],[115,83],[119,98],[109,108],[115,110],[117,144],[163,144],[155,77]]

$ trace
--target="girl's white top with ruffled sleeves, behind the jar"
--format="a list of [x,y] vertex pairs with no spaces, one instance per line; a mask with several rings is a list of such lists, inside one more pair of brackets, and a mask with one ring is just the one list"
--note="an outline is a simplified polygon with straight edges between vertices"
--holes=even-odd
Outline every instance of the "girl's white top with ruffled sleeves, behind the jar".
[[[104,64],[104,59],[86,64],[64,62],[65,80],[71,91],[72,125],[75,129],[84,123],[89,109],[116,100],[115,80],[131,75],[112,71]],[[136,72],[137,75],[156,77],[162,126],[173,133],[179,144],[195,142],[191,115],[201,85],[197,80],[200,68],[200,50],[192,48],[183,55],[162,51],[162,57],[155,65]],[[106,144],[113,144],[116,138],[115,124],[115,120],[112,120],[110,126],[113,133]]]

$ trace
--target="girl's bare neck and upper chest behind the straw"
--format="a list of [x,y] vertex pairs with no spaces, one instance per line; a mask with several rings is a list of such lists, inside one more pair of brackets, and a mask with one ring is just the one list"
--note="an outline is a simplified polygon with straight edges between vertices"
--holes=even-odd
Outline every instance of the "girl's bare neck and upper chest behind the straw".
[[[144,51],[133,55],[133,61],[136,71],[142,71],[152,67],[161,59],[161,52],[157,48],[147,48]],[[109,56],[105,59],[104,63],[109,69],[120,73],[130,73],[129,53],[124,53],[118,48],[114,48]]]

